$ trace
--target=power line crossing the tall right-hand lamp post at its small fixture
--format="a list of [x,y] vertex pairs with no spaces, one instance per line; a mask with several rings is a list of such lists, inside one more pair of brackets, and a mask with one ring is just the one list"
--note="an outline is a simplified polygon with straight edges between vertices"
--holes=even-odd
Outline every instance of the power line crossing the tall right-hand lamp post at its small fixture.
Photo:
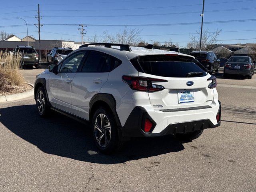
[[[254,10],[254,8],[239,8],[239,9],[225,9],[225,10],[209,10],[206,12],[222,12],[222,11],[238,11],[238,10]],[[159,13],[159,14],[133,14],[133,15],[85,15],[85,16],[71,16],[71,15],[44,15],[43,17],[129,17],[129,16],[162,16],[162,15],[175,15],[175,14],[191,14],[191,13],[201,13],[200,11],[194,12],[178,12],[178,13]]]

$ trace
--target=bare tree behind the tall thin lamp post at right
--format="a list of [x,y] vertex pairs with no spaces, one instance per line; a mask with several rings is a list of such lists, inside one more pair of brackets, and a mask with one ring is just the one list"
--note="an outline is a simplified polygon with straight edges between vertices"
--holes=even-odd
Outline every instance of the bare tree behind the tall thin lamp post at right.
[[[216,44],[217,37],[222,30],[216,30],[215,32],[210,32],[209,29],[203,30],[202,33],[202,46],[201,50],[211,50],[213,48],[213,44]],[[200,49],[200,32],[197,31],[197,36],[190,36],[191,42],[188,42],[187,47],[194,48],[195,50]]]

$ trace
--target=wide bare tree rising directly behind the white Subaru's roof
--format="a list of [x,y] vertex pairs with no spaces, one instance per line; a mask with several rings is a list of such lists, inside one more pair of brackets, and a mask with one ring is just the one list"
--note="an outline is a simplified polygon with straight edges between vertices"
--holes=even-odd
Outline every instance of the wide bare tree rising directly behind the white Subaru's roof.
[[103,32],[102,41],[110,43],[121,43],[128,44],[130,46],[137,46],[141,41],[138,36],[142,30],[137,28],[128,29],[127,27],[124,30],[116,32],[116,34],[110,34],[108,31]]

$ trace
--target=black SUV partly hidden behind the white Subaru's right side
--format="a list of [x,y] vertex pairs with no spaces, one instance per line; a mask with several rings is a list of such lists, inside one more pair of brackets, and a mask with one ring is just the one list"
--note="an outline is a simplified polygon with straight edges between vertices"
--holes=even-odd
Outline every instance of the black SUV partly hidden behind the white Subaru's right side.
[[211,74],[215,70],[220,70],[220,60],[212,51],[192,51],[190,55],[194,56]]

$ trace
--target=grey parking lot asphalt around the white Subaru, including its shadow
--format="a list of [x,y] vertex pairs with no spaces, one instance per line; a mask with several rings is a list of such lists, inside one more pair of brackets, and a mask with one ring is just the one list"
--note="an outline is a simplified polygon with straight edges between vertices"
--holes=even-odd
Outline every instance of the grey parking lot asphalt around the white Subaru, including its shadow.
[[33,98],[0,104],[0,191],[255,192],[256,90],[217,90],[220,127],[187,143],[132,139],[112,156],[97,152],[84,124],[56,112],[40,118]]

